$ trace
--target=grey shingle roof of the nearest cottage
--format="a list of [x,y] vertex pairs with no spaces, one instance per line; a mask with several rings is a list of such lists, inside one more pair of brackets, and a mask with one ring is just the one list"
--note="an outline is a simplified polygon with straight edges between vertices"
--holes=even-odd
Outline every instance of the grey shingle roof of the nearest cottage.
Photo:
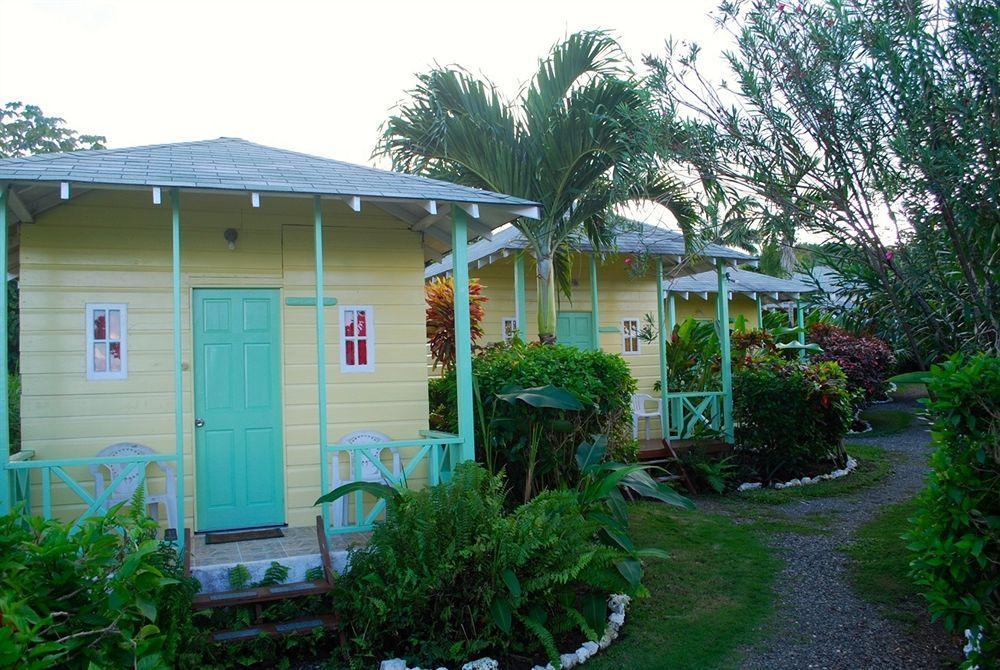
[[235,137],[0,160],[0,180],[177,186],[533,206],[436,179],[276,149]]

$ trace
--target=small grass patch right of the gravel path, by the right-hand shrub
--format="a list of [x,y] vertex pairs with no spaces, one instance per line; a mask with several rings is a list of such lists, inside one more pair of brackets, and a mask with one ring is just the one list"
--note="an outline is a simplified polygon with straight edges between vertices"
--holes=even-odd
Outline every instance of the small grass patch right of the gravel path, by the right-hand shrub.
[[914,500],[890,505],[841,547],[850,558],[848,574],[858,597],[882,605],[886,616],[909,623],[927,617],[917,587],[907,575],[911,556],[900,537],[915,510]]

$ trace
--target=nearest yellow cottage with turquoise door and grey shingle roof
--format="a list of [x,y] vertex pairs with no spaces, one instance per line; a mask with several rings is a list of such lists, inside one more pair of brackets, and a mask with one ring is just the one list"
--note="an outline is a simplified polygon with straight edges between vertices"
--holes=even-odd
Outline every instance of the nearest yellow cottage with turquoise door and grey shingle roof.
[[[471,359],[460,434],[429,432],[425,264],[538,216],[233,138],[0,161],[23,388],[0,512],[81,518],[145,481],[183,541],[309,526],[339,483],[446,478],[474,453]],[[331,507],[331,533],[379,513]]]

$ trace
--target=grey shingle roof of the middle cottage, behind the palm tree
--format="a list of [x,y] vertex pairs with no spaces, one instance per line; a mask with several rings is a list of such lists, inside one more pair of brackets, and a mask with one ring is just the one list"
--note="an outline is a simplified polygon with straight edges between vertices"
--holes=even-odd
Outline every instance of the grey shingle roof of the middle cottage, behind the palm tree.
[[[684,246],[684,236],[678,232],[654,226],[648,223],[631,222],[634,225],[619,233],[615,238],[614,251],[626,254],[651,254],[654,256],[687,256]],[[480,266],[493,262],[505,252],[524,249],[527,241],[519,230],[513,226],[495,231],[492,240],[479,240],[469,245],[469,263],[479,263]],[[593,246],[586,240],[579,240],[576,245],[584,252],[593,251]],[[730,249],[718,244],[709,244],[699,254],[710,258],[726,260],[752,261],[755,258],[736,249]],[[440,262],[428,265],[424,271],[425,277],[451,272],[451,254],[444,256]]]

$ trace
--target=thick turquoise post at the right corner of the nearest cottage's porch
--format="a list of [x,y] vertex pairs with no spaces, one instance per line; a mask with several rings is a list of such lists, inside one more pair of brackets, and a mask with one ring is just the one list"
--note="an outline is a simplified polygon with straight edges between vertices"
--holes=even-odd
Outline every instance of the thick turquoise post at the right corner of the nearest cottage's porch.
[[457,205],[451,208],[451,254],[455,280],[455,378],[458,386],[458,434],[462,438],[462,461],[476,458],[472,400],[472,328],[469,323],[468,215]]

